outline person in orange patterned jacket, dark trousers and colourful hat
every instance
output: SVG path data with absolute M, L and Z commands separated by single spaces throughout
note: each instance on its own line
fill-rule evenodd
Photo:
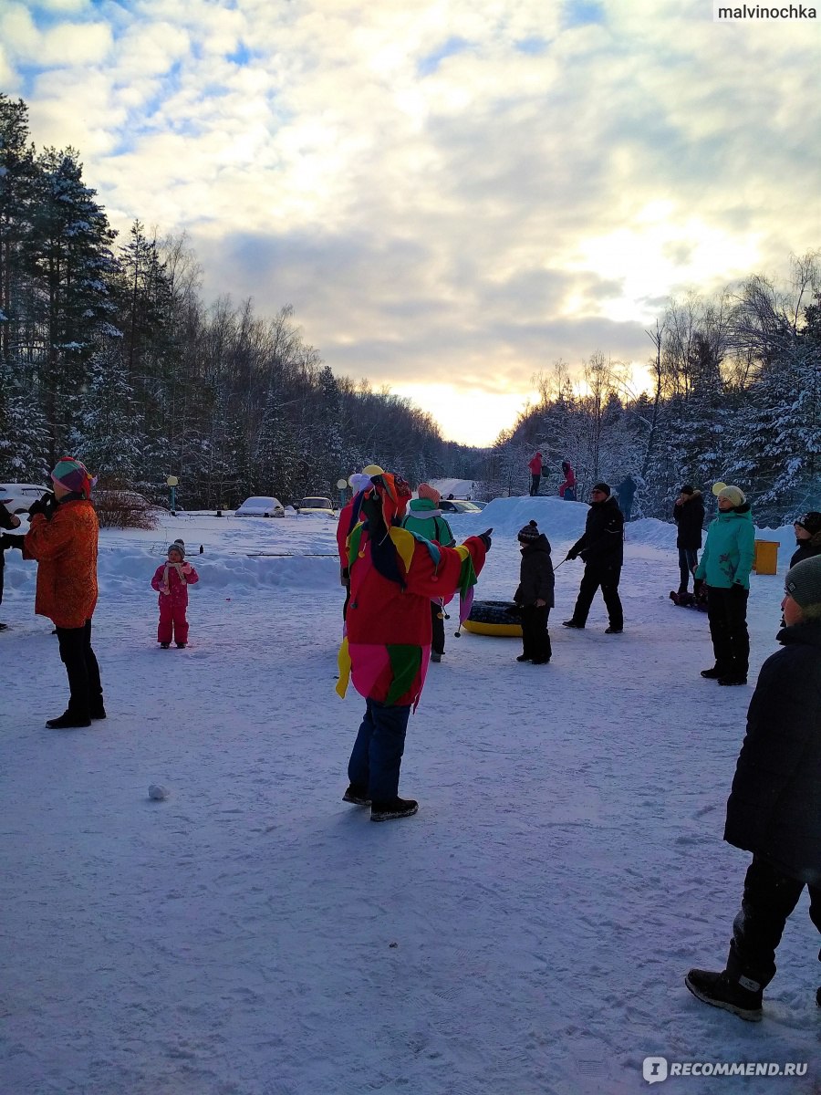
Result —
M 91 618 L 97 602 L 97 515 L 91 504 L 92 480 L 76 457 L 63 457 L 51 472 L 54 494 L 28 510 L 23 558 L 36 558 L 34 611 L 57 630 L 60 659 L 69 681 L 69 702 L 50 729 L 90 726 L 105 718 L 100 666 L 91 646 Z

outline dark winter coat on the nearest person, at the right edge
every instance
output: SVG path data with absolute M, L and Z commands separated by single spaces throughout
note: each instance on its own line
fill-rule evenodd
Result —
M 761 667 L 724 839 L 821 885 L 821 620 L 778 632 Z

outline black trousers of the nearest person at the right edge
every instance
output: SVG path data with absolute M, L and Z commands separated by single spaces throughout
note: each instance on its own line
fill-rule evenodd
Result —
M 753 856 L 744 878 L 741 910 L 732 924 L 727 958 L 731 975 L 750 978 L 762 989 L 775 977 L 775 950 L 787 918 L 798 904 L 805 883 L 782 874 L 777 867 Z M 808 886 L 810 920 L 821 932 L 821 886 Z M 821 952 L 819 953 L 821 960 Z

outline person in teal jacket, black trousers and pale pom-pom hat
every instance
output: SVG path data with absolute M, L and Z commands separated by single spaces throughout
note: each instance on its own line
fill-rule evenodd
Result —
M 718 494 L 718 516 L 707 529 L 696 581 L 707 584 L 707 619 L 716 664 L 702 677 L 719 684 L 747 684 L 750 635 L 747 599 L 755 554 L 750 504 L 737 486 Z

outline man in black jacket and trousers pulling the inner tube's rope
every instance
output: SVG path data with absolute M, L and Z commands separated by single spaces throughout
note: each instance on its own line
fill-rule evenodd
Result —
M 576 608 L 563 627 L 583 627 L 587 623 L 590 606 L 593 603 L 595 590 L 601 587 L 601 595 L 610 616 L 606 635 L 621 635 L 624 631 L 624 613 L 618 598 L 618 579 L 622 574 L 624 557 L 622 541 L 624 539 L 624 515 L 618 503 L 610 493 L 606 483 L 597 483 L 590 492 L 590 509 L 585 523 L 583 535 L 576 541 L 567 553 L 567 558 L 585 560 L 585 575 L 576 598 Z

